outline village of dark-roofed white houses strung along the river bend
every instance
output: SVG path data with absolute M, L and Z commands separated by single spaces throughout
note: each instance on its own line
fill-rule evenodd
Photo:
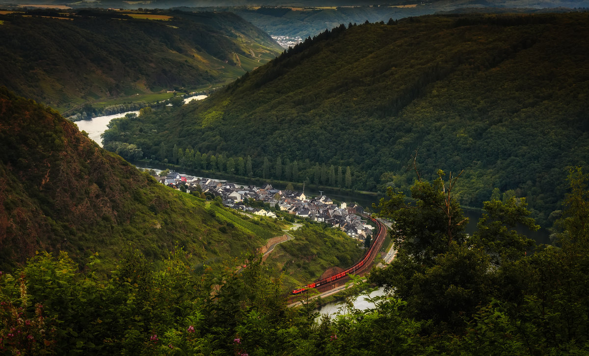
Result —
M 155 179 L 173 189 L 183 190 L 187 193 L 202 192 L 204 195 L 220 197 L 224 206 L 231 209 L 241 210 L 252 215 L 268 216 L 276 218 L 276 214 L 269 209 L 247 206 L 244 200 L 253 199 L 258 202 L 267 203 L 276 210 L 282 210 L 297 217 L 326 223 L 333 228 L 340 229 L 350 238 L 364 242 L 366 238 L 372 237 L 374 226 L 362 220 L 359 215 L 364 209 L 353 204 L 348 206 L 342 202 L 336 206 L 333 200 L 325 195 L 307 199 L 305 192 L 294 190 L 279 190 L 270 184 L 263 187 L 242 186 L 229 182 L 219 182 L 208 178 L 182 176 L 176 172 L 167 173 L 166 176 L 155 176 Z

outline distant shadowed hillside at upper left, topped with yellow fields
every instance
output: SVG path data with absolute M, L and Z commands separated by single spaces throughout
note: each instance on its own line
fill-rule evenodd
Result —
M 230 13 L 35 11 L 0 21 L 0 83 L 59 109 L 223 83 L 282 50 Z

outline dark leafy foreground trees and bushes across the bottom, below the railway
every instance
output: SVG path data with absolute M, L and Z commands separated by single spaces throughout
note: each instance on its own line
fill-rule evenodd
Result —
M 181 250 L 155 264 L 128 250 L 104 272 L 100 256 L 80 268 L 67 253 L 38 253 L 0 273 L 0 350 L 21 354 L 123 355 L 583 355 L 589 352 L 589 175 L 571 170 L 557 245 L 527 250 L 534 230 L 525 198 L 485 202 L 478 231 L 464 233 L 439 171 L 389 190 L 382 216 L 396 220 L 398 250 L 369 281 L 394 295 L 321 318 L 315 302 L 288 307 L 280 278 L 247 266 L 195 268 Z M 491 243 L 489 243 L 491 242 Z M 241 262 L 243 263 L 243 262 Z M 237 263 L 236 263 L 237 264 Z M 359 282 L 359 281 L 357 281 Z

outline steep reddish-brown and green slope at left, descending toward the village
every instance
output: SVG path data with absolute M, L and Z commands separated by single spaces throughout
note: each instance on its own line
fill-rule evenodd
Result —
M 179 246 L 214 264 L 266 243 L 240 228 L 247 218 L 227 224 L 211 203 L 155 182 L 55 111 L 5 88 L 0 118 L 0 269 L 35 250 L 66 250 L 79 261 L 130 245 L 151 259 Z M 267 235 L 282 234 L 264 224 Z

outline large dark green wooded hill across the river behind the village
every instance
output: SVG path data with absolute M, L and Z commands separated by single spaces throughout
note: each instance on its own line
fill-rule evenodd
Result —
M 366 190 L 406 189 L 418 150 L 426 178 L 465 171 L 463 205 L 528 197 L 534 216 L 550 225 L 566 167 L 589 159 L 588 18 L 342 25 L 208 100 L 121 123 L 108 141 L 199 169 L 210 168 L 214 154 L 223 162 L 249 156 L 253 175 Z

